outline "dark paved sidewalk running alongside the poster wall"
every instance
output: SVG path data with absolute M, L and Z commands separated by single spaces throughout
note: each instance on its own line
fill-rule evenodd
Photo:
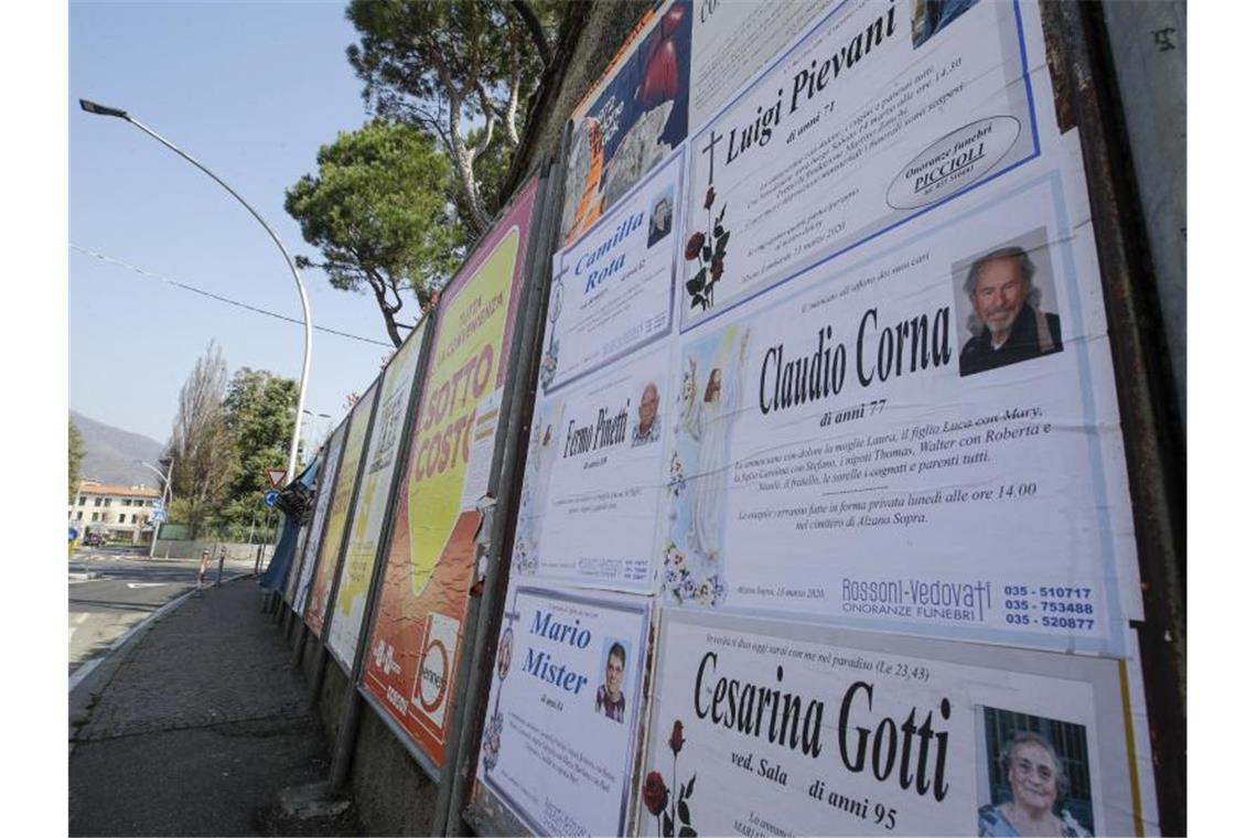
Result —
M 70 835 L 362 834 L 297 814 L 329 748 L 261 603 L 253 578 L 189 597 L 75 688 Z

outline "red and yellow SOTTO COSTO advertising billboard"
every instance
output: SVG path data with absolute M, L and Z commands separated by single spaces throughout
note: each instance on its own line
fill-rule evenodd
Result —
M 466 491 L 469 472 L 485 479 L 481 469 L 469 471 L 471 437 L 484 437 L 478 411 L 498 410 L 485 400 L 510 368 L 535 196 L 532 181 L 442 294 L 363 670 L 378 707 L 437 765 L 480 525 L 464 499 L 489 487 Z

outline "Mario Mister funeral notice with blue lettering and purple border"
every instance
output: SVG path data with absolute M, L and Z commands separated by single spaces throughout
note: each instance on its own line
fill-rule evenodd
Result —
M 642 597 L 508 592 L 478 776 L 535 834 L 627 834 L 649 624 Z

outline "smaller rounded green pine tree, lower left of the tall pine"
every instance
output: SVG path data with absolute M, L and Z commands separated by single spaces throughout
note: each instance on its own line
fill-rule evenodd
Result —
M 284 209 L 319 249 L 318 266 L 333 288 L 370 289 L 390 339 L 401 346 L 397 317 L 406 300 L 426 310 L 466 244 L 447 199 L 449 163 L 431 137 L 385 119 L 341 133 L 317 160 L 318 175 L 294 183 Z

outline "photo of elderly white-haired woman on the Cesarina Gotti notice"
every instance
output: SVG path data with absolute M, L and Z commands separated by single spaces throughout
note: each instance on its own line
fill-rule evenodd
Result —
M 1090 838 L 1095 830 L 1086 729 L 984 707 L 991 803 L 978 834 Z

